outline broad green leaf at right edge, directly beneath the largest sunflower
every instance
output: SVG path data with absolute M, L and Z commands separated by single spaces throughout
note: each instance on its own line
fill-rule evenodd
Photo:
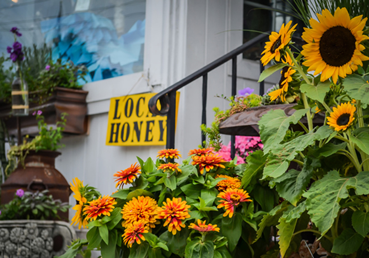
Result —
M 363 108 L 369 104 L 369 83 L 357 74 L 352 74 L 343 79 L 342 85 L 347 95 L 356 100 L 361 100 Z

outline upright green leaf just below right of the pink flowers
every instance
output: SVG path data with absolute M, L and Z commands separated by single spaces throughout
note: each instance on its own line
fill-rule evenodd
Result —
M 247 158 L 247 164 L 245 172 L 242 176 L 242 188 L 246 188 L 251 182 L 253 177 L 256 177 L 263 168 L 267 161 L 267 155 L 264 156 L 262 150 L 257 150 L 252 152 Z

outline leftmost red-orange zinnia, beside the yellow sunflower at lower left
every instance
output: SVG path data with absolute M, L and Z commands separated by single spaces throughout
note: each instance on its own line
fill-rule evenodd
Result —
M 92 200 L 88 204 L 84 207 L 84 215 L 87 215 L 86 220 L 96 220 L 101 214 L 110 216 L 110 212 L 114 210 L 113 205 L 117 204 L 117 202 L 109 195 L 103 196 L 102 198 L 100 195 L 98 199 Z

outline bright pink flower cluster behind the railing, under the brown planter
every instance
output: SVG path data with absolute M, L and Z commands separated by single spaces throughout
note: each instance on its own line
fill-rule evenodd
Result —
M 246 157 L 255 150 L 263 148 L 260 137 L 258 136 L 236 136 L 235 149 L 237 164 L 245 163 Z M 228 145 L 222 145 L 217 152 L 225 161 L 231 161 L 231 142 Z

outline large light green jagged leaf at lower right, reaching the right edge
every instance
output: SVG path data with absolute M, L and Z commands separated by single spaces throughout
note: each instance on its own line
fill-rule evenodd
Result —
M 314 182 L 310 189 L 302 194 L 306 197 L 306 209 L 311 221 L 324 235 L 332 226 L 340 209 L 339 201 L 349 196 L 348 189 L 355 189 L 358 195 L 369 194 L 369 172 L 360 172 L 355 177 L 340 177 L 338 172 L 328 172 Z

